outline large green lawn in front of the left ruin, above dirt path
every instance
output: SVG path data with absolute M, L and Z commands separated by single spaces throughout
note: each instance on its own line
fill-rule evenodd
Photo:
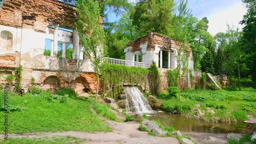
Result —
M 0 105 L 4 103 L 4 94 L 0 91 Z M 29 132 L 57 132 L 57 131 L 83 131 L 83 132 L 109 132 L 110 127 L 104 126 L 96 114 L 90 110 L 91 99 L 69 99 L 67 103 L 53 103 L 48 97 L 41 94 L 25 93 L 23 97 L 9 94 L 9 105 L 25 108 L 8 114 L 9 133 Z M 0 111 L 3 116 L 4 112 Z M 1 117 L 2 117 L 1 116 Z M 5 119 L 0 118 L 4 124 Z M 4 129 L 0 125 L 0 129 Z M 0 132 L 1 134 L 4 131 Z

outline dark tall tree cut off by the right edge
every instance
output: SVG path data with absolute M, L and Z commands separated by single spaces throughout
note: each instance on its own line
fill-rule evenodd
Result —
M 247 13 L 243 16 L 241 24 L 243 28 L 243 51 L 247 54 L 247 66 L 252 75 L 252 81 L 256 82 L 256 1 L 242 0 Z

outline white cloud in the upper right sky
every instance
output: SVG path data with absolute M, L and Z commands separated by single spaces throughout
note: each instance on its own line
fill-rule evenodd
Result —
M 208 32 L 212 35 L 215 35 L 219 32 L 226 32 L 228 23 L 230 26 L 235 28 L 242 26 L 239 22 L 243 19 L 243 15 L 246 13 L 246 9 L 242 5 L 242 2 L 238 2 L 228 8 L 223 8 L 216 13 L 212 13 L 210 16 L 207 16 L 209 20 Z

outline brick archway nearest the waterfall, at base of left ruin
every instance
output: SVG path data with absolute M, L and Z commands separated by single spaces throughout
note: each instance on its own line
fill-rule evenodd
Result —
M 77 77 L 73 82 L 72 82 L 72 87 L 75 89 L 75 91 L 80 95 L 83 92 L 88 92 L 90 91 L 89 89 L 89 83 L 87 80 L 83 77 Z

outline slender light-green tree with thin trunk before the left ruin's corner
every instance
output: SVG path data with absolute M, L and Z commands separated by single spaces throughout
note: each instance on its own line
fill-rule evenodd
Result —
M 96 75 L 96 102 L 98 96 L 101 64 L 103 57 L 106 54 L 106 47 L 103 46 L 104 31 L 99 25 L 100 9 L 98 1 L 88 0 L 86 2 L 84 0 L 77 0 L 76 11 L 78 14 L 75 26 L 79 33 L 81 44 L 86 50 L 86 55 L 90 59 Z

